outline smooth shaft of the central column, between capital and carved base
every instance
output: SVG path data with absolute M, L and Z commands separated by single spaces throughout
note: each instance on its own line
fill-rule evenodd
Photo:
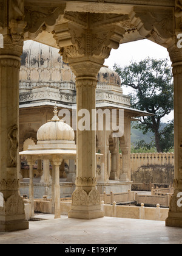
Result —
M 95 109 L 96 79 L 83 79 L 76 81 L 77 114 L 79 110 L 86 109 L 90 116 L 90 130 L 80 130 L 77 127 L 76 143 L 76 187 L 82 188 L 87 193 L 96 186 L 96 132 L 92 130 L 92 109 Z M 81 117 L 78 117 L 78 124 Z

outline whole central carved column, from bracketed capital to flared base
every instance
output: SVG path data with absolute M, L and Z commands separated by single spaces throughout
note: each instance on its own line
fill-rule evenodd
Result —
M 123 20 L 121 15 L 121 20 Z M 99 20 L 103 21 L 101 25 Z M 120 18 L 119 18 L 120 19 Z M 76 133 L 76 190 L 72 195 L 70 218 L 92 219 L 104 216 L 98 190 L 96 190 L 96 131 L 92 130 L 92 110 L 95 110 L 97 74 L 112 48 L 117 49 L 125 30 L 118 19 L 110 15 L 72 13 L 64 15 L 67 23 L 55 26 L 55 39 L 64 62 L 69 63 L 76 76 L 78 129 Z M 87 128 L 79 122 L 86 110 Z M 89 123 L 89 125 L 88 125 Z M 89 127 L 88 127 L 89 126 Z

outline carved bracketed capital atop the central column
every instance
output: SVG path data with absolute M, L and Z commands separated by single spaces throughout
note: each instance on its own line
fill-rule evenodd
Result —
M 95 13 L 69 13 L 66 12 L 64 20 L 67 23 L 55 26 L 54 38 L 60 48 L 64 62 L 75 70 L 76 65 L 86 62 L 103 65 L 104 59 L 110 55 L 111 49 L 117 49 L 125 34 L 125 29 L 118 22 L 126 20 L 127 15 L 111 17 L 101 16 L 98 20 Z M 75 65 L 75 66 L 74 66 Z M 78 69 L 78 68 L 77 68 Z M 92 69 L 92 72 L 96 72 Z

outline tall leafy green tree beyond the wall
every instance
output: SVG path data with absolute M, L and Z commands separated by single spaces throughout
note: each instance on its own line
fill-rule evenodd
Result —
M 174 122 L 161 129 L 161 119 L 174 109 L 172 69 L 167 59 L 144 59 L 121 68 L 114 66 L 121 77 L 121 86 L 131 87 L 131 105 L 138 110 L 152 113 L 141 118 L 136 128 L 143 133 L 155 133 L 157 152 L 166 152 L 174 146 Z

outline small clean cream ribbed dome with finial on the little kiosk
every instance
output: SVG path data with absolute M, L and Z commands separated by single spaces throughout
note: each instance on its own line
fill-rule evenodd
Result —
M 55 110 L 54 116 L 52 120 L 50 120 L 48 123 L 43 124 L 38 132 L 37 132 L 37 140 L 39 141 L 73 141 L 75 138 L 75 133 L 72 127 L 70 127 L 68 124 L 60 121 L 58 118 L 58 111 L 57 107 L 54 107 Z

